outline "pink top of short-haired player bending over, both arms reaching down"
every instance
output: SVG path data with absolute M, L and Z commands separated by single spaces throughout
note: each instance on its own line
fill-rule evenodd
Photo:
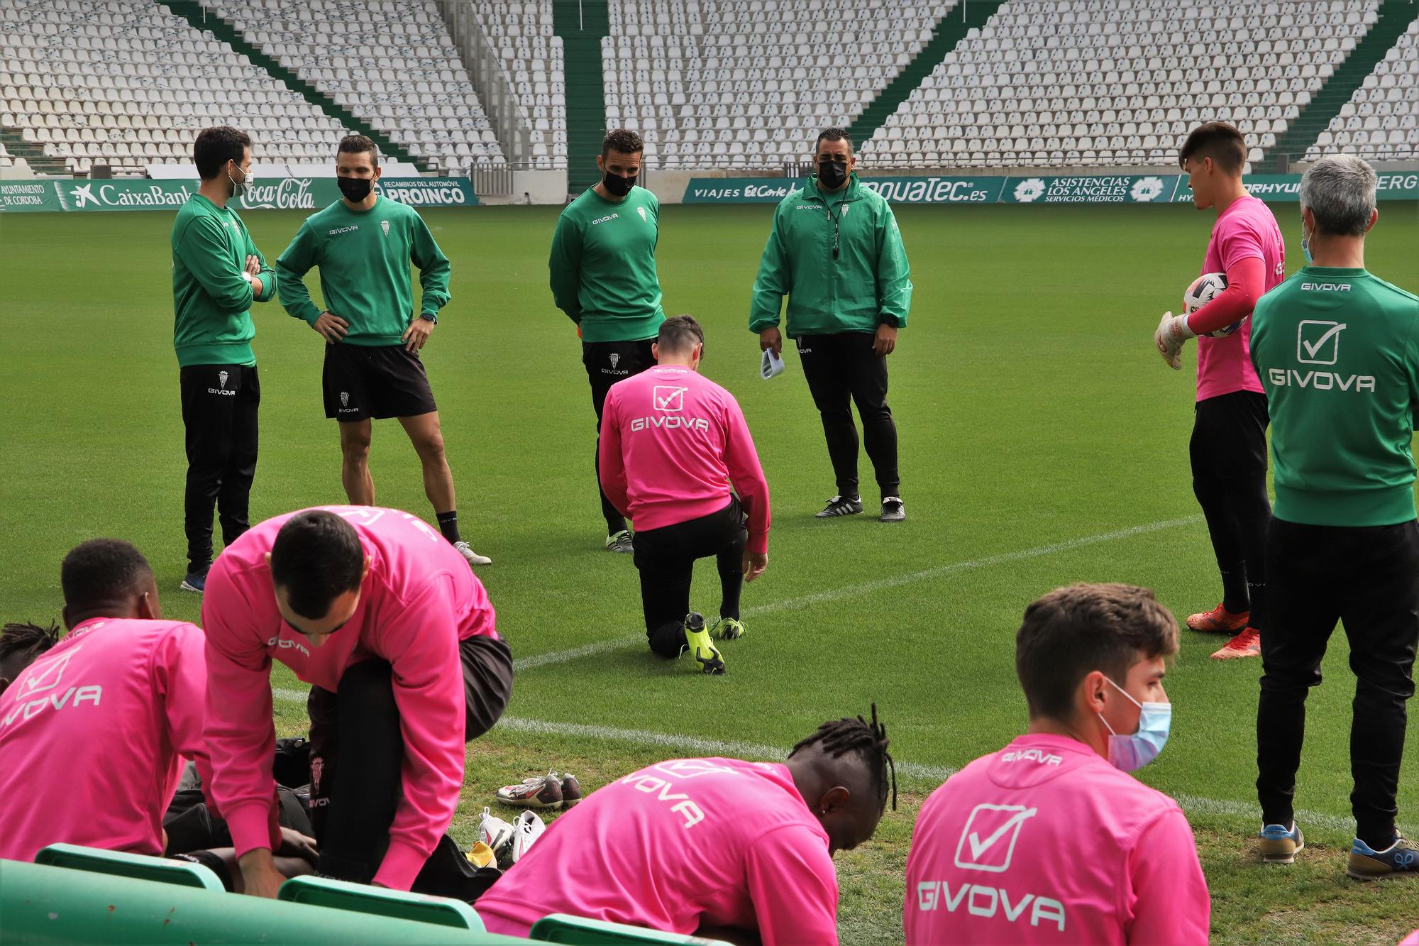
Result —
M 271 659 L 307 683 L 338 690 L 345 670 L 382 658 L 394 668 L 404 737 L 404 797 L 375 882 L 407 891 L 453 821 L 463 787 L 464 685 L 458 642 L 497 636 L 492 605 L 468 562 L 434 528 L 393 509 L 328 506 L 359 533 L 369 575 L 359 607 L 318 648 L 281 619 L 265 557 L 295 513 L 253 527 L 207 574 L 209 798 L 241 857 L 271 847 Z

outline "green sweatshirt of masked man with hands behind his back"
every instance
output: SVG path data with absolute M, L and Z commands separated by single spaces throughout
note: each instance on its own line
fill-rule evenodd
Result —
M 583 342 L 654 338 L 660 307 L 656 243 L 660 202 L 631 187 L 620 202 L 589 187 L 566 205 L 552 233 L 552 300 L 582 327 Z

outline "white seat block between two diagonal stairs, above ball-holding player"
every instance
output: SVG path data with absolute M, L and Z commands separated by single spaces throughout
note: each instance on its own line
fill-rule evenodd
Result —
M 863 153 L 877 166 L 1174 163 L 1188 128 L 1220 118 L 1256 142 L 1256 163 L 1378 6 L 1010 0 Z

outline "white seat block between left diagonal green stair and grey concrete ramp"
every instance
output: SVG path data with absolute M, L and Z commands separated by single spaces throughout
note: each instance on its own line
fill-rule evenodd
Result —
M 504 161 L 431 0 L 203 0 L 203 6 L 416 163 L 464 173 L 473 162 Z

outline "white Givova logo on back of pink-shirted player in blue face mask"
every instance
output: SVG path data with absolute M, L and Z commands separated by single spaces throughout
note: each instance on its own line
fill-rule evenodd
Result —
M 956 844 L 955 865 L 966 871 L 1003 874 L 1015 858 L 1020 828 L 1039 814 L 1039 808 L 1025 805 L 979 804 L 966 818 Z M 1064 905 L 1039 893 L 1012 893 L 1005 886 L 971 884 L 951 886 L 951 881 L 922 881 L 917 884 L 917 909 L 929 913 L 945 909 L 955 913 L 965 908 L 971 916 L 1003 919 L 1006 923 L 1029 922 L 1030 926 L 1053 923 L 1064 932 Z

